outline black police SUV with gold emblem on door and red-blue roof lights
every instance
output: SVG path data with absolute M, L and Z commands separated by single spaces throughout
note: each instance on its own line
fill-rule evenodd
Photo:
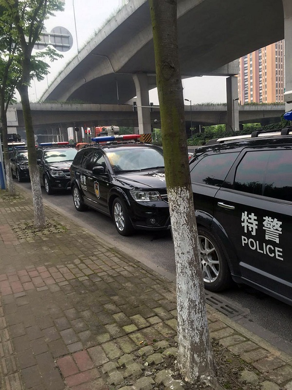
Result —
M 135 138 L 97 137 L 71 166 L 76 210 L 110 215 L 119 234 L 170 229 L 162 149 Z

